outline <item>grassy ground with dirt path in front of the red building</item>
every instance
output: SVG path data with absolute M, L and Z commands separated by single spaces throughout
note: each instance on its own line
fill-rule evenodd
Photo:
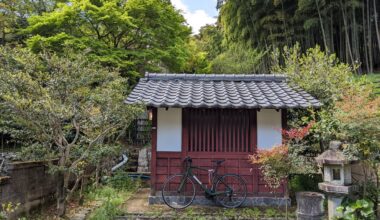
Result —
M 78 201 L 68 204 L 66 218 L 71 220 L 108 220 L 108 219 L 285 219 L 285 211 L 277 208 L 238 208 L 227 209 L 218 206 L 204 207 L 191 205 L 183 210 L 173 210 L 166 205 L 149 205 L 149 188 L 140 188 L 133 193 L 114 191 L 109 186 L 102 186 L 86 194 L 86 202 Z M 105 197 L 109 196 L 108 199 Z M 55 214 L 55 204 L 35 211 L 26 219 L 60 219 Z M 288 212 L 289 219 L 295 219 L 295 207 Z

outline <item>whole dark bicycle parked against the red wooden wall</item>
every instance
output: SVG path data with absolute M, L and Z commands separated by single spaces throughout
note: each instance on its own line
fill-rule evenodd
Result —
M 162 198 L 166 205 L 173 209 L 184 209 L 191 205 L 195 198 L 196 182 L 205 192 L 206 198 L 214 199 L 226 208 L 237 208 L 241 206 L 247 197 L 247 185 L 238 174 L 218 175 L 218 168 L 225 160 L 213 160 L 216 163 L 215 169 L 208 170 L 202 167 L 192 166 L 192 159 L 186 157 L 185 172 L 175 174 L 167 178 L 162 188 Z M 211 188 L 208 189 L 192 170 L 198 169 L 209 172 L 209 182 Z M 211 178 L 212 177 L 212 178 Z

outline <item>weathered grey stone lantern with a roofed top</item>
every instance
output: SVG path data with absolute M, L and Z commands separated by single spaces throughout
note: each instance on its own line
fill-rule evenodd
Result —
M 351 167 L 357 160 L 347 158 L 339 149 L 341 145 L 339 141 L 331 141 L 329 149 L 315 158 L 323 167 L 323 182 L 318 187 L 327 194 L 329 219 L 336 215 L 343 198 L 357 190 L 351 175 Z

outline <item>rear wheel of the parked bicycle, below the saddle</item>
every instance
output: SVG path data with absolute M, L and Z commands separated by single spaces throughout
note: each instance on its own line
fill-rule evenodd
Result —
M 215 196 L 216 201 L 226 208 L 241 206 L 247 197 L 247 184 L 236 174 L 220 177 L 215 184 L 215 190 L 219 193 Z

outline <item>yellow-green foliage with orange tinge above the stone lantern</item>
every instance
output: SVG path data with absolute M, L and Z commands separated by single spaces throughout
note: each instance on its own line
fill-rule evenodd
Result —
M 352 68 L 319 47 L 305 54 L 300 52 L 298 45 L 290 49 L 285 47 L 283 54 L 283 64 L 277 64 L 273 71 L 284 72 L 293 86 L 302 88 L 323 103 L 318 111 L 290 111 L 289 122 L 293 127 L 316 121 L 310 135 L 293 144 L 293 149 L 298 155 L 314 157 L 329 141 L 341 140 L 345 143 L 343 150 L 347 156 L 361 160 L 376 174 L 380 164 L 380 99 L 373 95 L 371 84 L 365 78 L 354 77 Z M 380 179 L 379 175 L 375 178 Z M 367 183 L 370 183 L 368 179 Z M 377 193 L 371 196 L 368 193 L 365 190 L 360 197 L 375 198 L 376 203 Z

